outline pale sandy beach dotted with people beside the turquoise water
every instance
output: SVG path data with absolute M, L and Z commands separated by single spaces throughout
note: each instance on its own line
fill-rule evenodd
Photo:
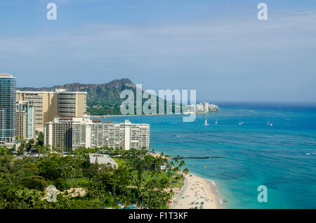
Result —
M 218 209 L 214 185 L 202 177 L 185 175 L 184 186 L 171 201 L 170 209 Z

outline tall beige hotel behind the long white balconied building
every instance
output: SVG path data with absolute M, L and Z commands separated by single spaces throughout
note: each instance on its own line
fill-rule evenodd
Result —
M 44 130 L 45 123 L 56 116 L 82 117 L 86 112 L 86 92 L 70 92 L 65 89 L 55 91 L 16 91 L 16 100 L 34 104 L 36 130 Z

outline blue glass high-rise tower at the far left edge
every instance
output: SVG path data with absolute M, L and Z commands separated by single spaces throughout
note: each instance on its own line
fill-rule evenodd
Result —
M 15 138 L 15 77 L 0 74 L 0 144 L 13 144 Z

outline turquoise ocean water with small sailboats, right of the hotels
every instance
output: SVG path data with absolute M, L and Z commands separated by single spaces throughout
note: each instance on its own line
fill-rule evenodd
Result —
M 218 113 L 197 114 L 193 123 L 183 123 L 180 115 L 128 119 L 150 123 L 155 151 L 225 156 L 185 159 L 192 173 L 216 182 L 221 200 L 228 201 L 224 208 L 316 208 L 316 105 L 218 104 Z M 210 126 L 203 125 L 206 118 Z M 244 124 L 239 126 L 239 121 Z M 267 203 L 257 201 L 259 185 L 268 187 Z

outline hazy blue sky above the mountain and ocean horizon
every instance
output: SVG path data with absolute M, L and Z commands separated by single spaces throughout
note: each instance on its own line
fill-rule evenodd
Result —
M 0 73 L 18 87 L 129 78 L 197 100 L 316 102 L 316 1 L 0 0 Z

